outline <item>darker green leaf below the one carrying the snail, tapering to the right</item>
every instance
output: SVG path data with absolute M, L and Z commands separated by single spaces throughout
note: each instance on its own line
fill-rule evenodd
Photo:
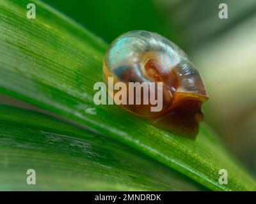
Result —
M 122 143 L 11 106 L 0 105 L 0 149 L 1 191 L 202 189 Z M 36 185 L 27 184 L 28 169 Z

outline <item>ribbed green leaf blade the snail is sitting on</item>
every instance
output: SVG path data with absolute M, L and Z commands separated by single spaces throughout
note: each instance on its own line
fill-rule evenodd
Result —
M 212 190 L 255 190 L 255 180 L 204 124 L 196 140 L 166 133 L 118 106 L 93 103 L 107 45 L 72 20 L 36 1 L 0 2 L 0 91 L 124 143 Z M 218 182 L 220 169 L 228 184 Z

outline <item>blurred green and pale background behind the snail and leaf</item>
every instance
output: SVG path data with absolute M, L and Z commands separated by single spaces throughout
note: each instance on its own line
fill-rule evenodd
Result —
M 210 100 L 205 120 L 256 175 L 256 1 L 44 0 L 111 43 L 127 31 L 162 34 L 191 57 Z M 228 19 L 218 6 L 228 5 Z

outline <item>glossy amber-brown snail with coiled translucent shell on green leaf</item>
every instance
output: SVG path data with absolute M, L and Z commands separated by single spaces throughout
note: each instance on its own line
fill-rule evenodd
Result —
M 148 31 L 130 31 L 122 34 L 111 43 L 105 55 L 103 73 L 106 84 L 109 77 L 113 77 L 114 84 L 161 82 L 161 111 L 152 112 L 152 103 L 127 103 L 122 106 L 129 112 L 147 117 L 154 126 L 166 131 L 185 136 L 195 136 L 198 133 L 198 124 L 204 119 L 201 106 L 208 99 L 207 93 L 193 63 L 171 41 Z M 150 89 L 148 91 L 152 92 Z M 139 96 L 134 95 L 135 98 L 141 97 L 141 101 L 146 101 L 141 93 Z M 113 97 L 116 91 L 113 90 L 109 94 Z M 131 94 L 129 95 L 127 90 L 125 94 L 129 101 Z

